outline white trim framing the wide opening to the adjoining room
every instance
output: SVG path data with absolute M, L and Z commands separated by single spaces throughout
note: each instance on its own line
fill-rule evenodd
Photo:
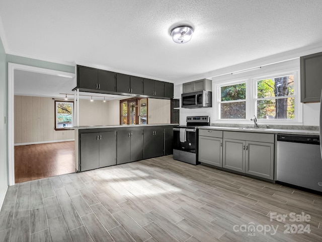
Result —
M 75 74 L 45 69 L 29 65 L 8 63 L 8 172 L 9 186 L 15 185 L 15 70 L 26 70 L 43 74 L 73 78 L 76 87 Z

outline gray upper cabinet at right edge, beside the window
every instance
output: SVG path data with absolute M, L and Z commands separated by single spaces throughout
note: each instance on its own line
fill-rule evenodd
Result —
M 319 102 L 322 89 L 322 52 L 300 57 L 301 102 Z

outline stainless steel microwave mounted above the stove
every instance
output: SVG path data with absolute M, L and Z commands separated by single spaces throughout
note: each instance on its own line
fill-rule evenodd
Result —
M 182 108 L 210 108 L 212 107 L 212 95 L 210 91 L 199 91 L 181 94 Z

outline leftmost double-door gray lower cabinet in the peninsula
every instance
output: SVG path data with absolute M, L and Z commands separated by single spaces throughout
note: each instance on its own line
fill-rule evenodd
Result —
M 116 165 L 115 131 L 81 133 L 81 162 L 79 171 L 84 172 Z

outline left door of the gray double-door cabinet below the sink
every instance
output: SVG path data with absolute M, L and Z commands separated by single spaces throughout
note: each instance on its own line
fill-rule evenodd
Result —
M 246 141 L 223 139 L 222 167 L 245 173 L 245 147 Z

